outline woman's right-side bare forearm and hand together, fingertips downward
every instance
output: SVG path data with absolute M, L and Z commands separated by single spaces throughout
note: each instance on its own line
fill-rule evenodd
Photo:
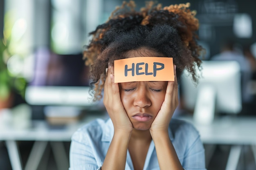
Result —
M 183 170 L 168 135 L 169 122 L 179 103 L 176 66 L 174 66 L 174 73 L 175 80 L 168 82 L 164 102 L 150 127 L 150 134 L 155 143 L 157 159 L 161 170 Z

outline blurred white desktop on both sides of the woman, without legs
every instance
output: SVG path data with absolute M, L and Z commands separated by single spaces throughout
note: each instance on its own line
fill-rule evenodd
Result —
M 0 126 L 0 141 L 70 141 L 72 134 L 87 122 L 106 115 L 87 115 L 81 122 L 51 128 L 46 121 L 31 121 L 26 128 Z M 256 117 L 222 117 L 212 124 L 196 124 L 192 117 L 177 117 L 191 122 L 205 144 L 256 144 Z

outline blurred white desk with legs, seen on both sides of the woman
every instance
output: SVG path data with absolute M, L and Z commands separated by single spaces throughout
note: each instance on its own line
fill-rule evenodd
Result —
M 19 109 L 20 110 L 20 109 Z M 46 121 L 29 121 L 29 126 L 16 128 L 14 124 L 0 123 L 0 141 L 5 141 L 13 170 L 22 170 L 19 149 L 16 141 L 35 141 L 25 170 L 36 170 L 48 143 L 52 148 L 58 169 L 67 169 L 68 158 L 63 141 L 71 141 L 72 134 L 85 123 L 106 115 L 87 115 L 81 122 L 68 124 L 62 129 L 49 128 Z M 198 129 L 204 144 L 232 145 L 226 170 L 236 170 L 242 145 L 253 148 L 256 161 L 256 117 L 222 117 L 212 124 L 196 124 L 192 117 L 177 117 L 191 122 Z

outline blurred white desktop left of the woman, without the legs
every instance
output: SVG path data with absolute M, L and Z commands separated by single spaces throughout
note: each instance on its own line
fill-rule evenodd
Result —
M 101 117 L 106 117 L 106 115 Z M 47 121 L 43 120 L 29 121 L 29 125 L 25 128 L 6 124 L 0 126 L 0 141 L 71 141 L 72 134 L 79 127 L 96 118 L 99 118 L 99 115 L 85 116 L 81 122 L 67 124 L 63 127 L 49 126 Z

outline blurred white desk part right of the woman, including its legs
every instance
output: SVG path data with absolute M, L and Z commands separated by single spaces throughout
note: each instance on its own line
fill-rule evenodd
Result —
M 197 124 L 192 117 L 178 118 L 193 124 L 204 144 L 231 145 L 226 170 L 236 170 L 243 145 L 252 146 L 256 162 L 256 117 L 218 117 L 209 125 Z

